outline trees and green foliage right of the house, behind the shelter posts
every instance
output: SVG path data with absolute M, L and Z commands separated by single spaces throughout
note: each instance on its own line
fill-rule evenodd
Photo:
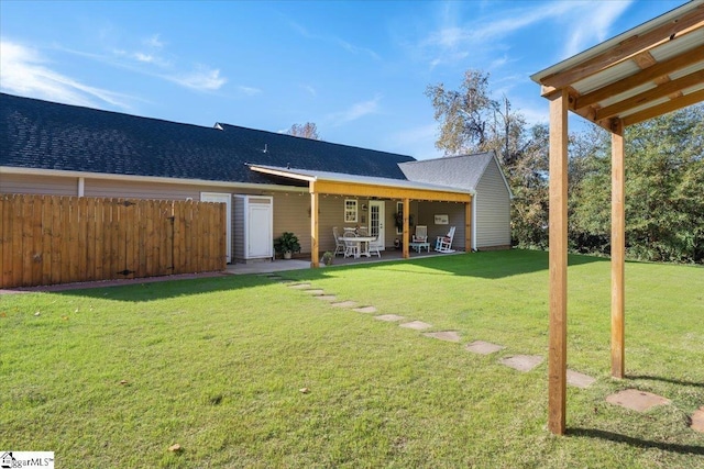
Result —
M 514 193 L 513 244 L 548 247 L 548 127 L 526 129 L 508 99 L 491 97 L 488 74 L 468 70 L 460 89 L 429 86 L 449 155 L 494 150 Z M 635 259 L 704 264 L 704 107 L 628 127 L 626 244 Z M 570 135 L 569 245 L 610 253 L 610 136 L 600 127 Z

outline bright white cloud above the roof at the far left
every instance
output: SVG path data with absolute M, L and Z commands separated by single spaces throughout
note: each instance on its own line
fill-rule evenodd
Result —
M 53 70 L 48 64 L 36 49 L 0 40 L 0 89 L 67 104 L 130 109 L 127 96 L 81 83 Z

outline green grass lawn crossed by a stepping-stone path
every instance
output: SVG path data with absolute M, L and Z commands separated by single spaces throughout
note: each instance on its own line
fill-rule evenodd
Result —
M 546 431 L 547 361 L 497 362 L 548 348 L 547 254 L 512 250 L 284 272 L 460 344 L 256 276 L 0 297 L 0 450 L 53 450 L 59 468 L 704 467 L 688 425 L 704 269 L 627 264 L 619 381 L 609 263 L 570 264 L 569 366 L 597 381 L 569 388 L 565 437 Z M 471 354 L 475 339 L 506 348 Z M 605 402 L 628 388 L 672 402 Z

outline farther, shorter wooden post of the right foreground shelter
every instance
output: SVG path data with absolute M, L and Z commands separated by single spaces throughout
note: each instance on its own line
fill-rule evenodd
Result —
M 626 210 L 625 144 L 620 120 L 612 125 L 612 376 L 624 378 Z

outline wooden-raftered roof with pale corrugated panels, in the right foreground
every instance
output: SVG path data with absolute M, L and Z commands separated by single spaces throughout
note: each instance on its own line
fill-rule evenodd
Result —
M 704 101 L 704 0 L 693 0 L 531 76 L 612 131 Z

